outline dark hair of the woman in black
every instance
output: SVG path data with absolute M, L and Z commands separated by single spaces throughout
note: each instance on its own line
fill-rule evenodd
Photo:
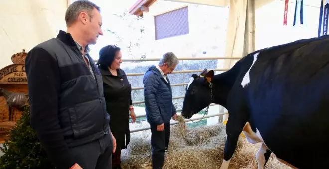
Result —
M 115 45 L 104 46 L 99 51 L 97 66 L 101 69 L 108 70 L 108 67 L 111 66 L 118 51 L 120 51 L 120 48 Z

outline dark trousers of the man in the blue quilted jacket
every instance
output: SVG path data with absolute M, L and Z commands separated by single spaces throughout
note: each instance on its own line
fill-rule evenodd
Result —
M 165 123 L 164 131 L 157 131 L 157 125 L 150 124 L 152 146 L 152 169 L 162 169 L 165 161 L 165 150 L 170 140 L 170 123 Z

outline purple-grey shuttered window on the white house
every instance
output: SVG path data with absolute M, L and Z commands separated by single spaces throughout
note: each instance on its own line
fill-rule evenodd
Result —
M 186 35 L 188 28 L 188 7 L 183 7 L 154 17 L 156 40 Z

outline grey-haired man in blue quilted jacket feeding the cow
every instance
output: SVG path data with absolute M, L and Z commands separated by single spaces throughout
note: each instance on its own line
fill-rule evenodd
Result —
M 159 65 L 151 66 L 143 77 L 146 119 L 151 127 L 152 168 L 161 169 L 170 138 L 170 119 L 177 120 L 167 75 L 178 64 L 172 52 L 165 53 Z

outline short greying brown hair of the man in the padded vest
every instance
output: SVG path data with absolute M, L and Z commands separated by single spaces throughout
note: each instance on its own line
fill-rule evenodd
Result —
M 66 26 L 71 26 L 79 17 L 81 12 L 86 12 L 89 17 L 90 21 L 93 18 L 91 12 L 96 8 L 100 12 L 100 7 L 98 7 L 93 2 L 89 0 L 77 0 L 73 2 L 67 9 L 65 13 L 65 22 Z

